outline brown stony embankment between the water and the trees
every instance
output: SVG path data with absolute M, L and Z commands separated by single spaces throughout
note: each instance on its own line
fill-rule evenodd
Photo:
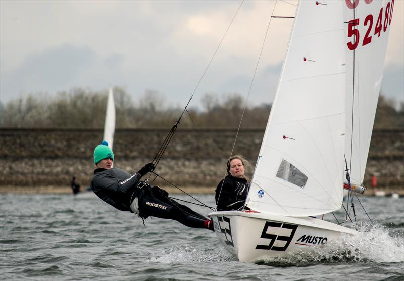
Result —
M 136 172 L 155 157 L 167 129 L 118 129 L 115 133 L 115 166 Z M 161 159 L 154 181 L 160 186 L 195 186 L 214 190 L 226 172 L 237 130 L 178 129 Z M 92 153 L 102 138 L 97 129 L 0 129 L 0 192 L 37 189 L 69 189 L 75 176 L 88 186 L 93 174 Z M 238 133 L 234 154 L 250 161 L 251 174 L 260 150 L 264 130 Z M 365 173 L 365 186 L 371 189 L 376 174 L 378 189 L 400 192 L 404 181 L 404 130 L 374 130 Z M 163 178 L 163 179 L 162 179 Z M 153 178 L 151 178 L 153 179 Z M 167 181 L 166 181 L 167 180 Z

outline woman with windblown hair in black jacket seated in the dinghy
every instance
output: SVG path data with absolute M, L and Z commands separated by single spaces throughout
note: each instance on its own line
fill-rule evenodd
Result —
M 245 176 L 248 161 L 235 155 L 227 161 L 227 176 L 222 179 L 215 192 L 218 211 L 240 210 L 244 207 L 249 183 Z

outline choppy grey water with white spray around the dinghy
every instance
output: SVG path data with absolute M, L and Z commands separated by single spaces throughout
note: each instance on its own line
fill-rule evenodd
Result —
M 196 197 L 214 204 L 213 195 Z M 404 199 L 363 203 L 375 219 L 363 236 L 251 264 L 232 259 L 211 231 L 157 218 L 144 226 L 95 196 L 0 195 L 0 279 L 404 280 Z

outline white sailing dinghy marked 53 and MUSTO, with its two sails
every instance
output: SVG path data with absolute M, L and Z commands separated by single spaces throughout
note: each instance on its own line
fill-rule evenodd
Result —
M 272 260 L 357 230 L 322 220 L 363 178 L 394 0 L 305 0 L 245 209 L 208 216 L 239 261 Z

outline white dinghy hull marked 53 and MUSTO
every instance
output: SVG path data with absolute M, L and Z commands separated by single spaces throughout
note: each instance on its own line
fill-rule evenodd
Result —
M 271 260 L 359 232 L 311 217 L 224 211 L 209 214 L 220 243 L 241 262 Z

